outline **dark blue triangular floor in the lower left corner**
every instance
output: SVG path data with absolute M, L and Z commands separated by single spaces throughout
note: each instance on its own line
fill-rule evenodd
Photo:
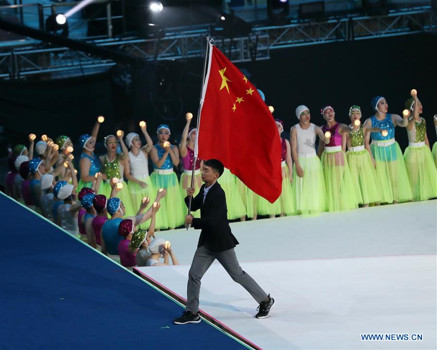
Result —
M 0 349 L 246 349 L 0 194 Z

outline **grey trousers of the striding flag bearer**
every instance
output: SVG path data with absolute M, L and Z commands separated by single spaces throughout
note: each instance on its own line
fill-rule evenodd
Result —
M 232 280 L 240 283 L 258 303 L 267 297 L 267 293 L 262 290 L 258 283 L 242 270 L 233 248 L 220 252 L 212 252 L 203 245 L 197 248 L 192 259 L 190 272 L 188 273 L 186 310 L 194 313 L 199 311 L 200 280 L 215 259 L 222 264 Z

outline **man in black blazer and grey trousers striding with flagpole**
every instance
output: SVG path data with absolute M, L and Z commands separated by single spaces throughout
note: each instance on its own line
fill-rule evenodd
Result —
M 225 191 L 217 182 L 223 170 L 223 164 L 216 159 L 205 162 L 202 170 L 202 181 L 205 184 L 192 199 L 192 210 L 200 209 L 200 218 L 194 218 L 192 215 L 185 218 L 187 224 L 192 224 L 194 229 L 202 229 L 202 232 L 188 273 L 186 311 L 181 317 L 173 320 L 175 324 L 200 322 L 200 280 L 215 259 L 226 269 L 232 280 L 240 283 L 260 304 L 255 317 L 267 317 L 275 304 L 270 294 L 267 295 L 238 263 L 234 250 L 238 241 L 232 234 L 227 220 Z M 194 194 L 194 189 L 187 188 L 187 194 L 185 203 L 188 206 L 189 196 Z

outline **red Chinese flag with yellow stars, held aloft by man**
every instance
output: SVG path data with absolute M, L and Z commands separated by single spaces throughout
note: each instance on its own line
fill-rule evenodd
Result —
M 220 160 L 271 203 L 279 198 L 281 146 L 275 120 L 253 84 L 212 45 L 198 150 L 200 158 Z

